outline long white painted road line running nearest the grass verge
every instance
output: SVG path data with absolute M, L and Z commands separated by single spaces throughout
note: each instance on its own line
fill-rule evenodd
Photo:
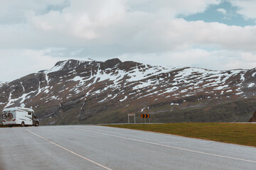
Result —
M 136 142 L 143 142 L 143 143 L 147 143 L 147 144 L 151 144 L 151 145 L 157 145 L 157 146 L 160 146 L 160 147 L 169 147 L 169 148 L 172 148 L 172 149 L 178 149 L 178 150 L 182 150 L 182 151 L 186 151 L 186 152 L 193 152 L 193 153 L 198 153 L 198 154 L 206 154 L 206 155 L 210 155 L 210 156 L 213 156 L 213 157 L 221 157 L 221 158 L 234 159 L 234 160 L 243 161 L 243 162 L 256 163 L 256 161 L 252 161 L 252 160 L 248 160 L 248 159 L 240 159 L 240 158 L 235 158 L 235 157 L 226 157 L 226 156 L 223 156 L 223 155 L 220 155 L 220 154 L 209 154 L 209 153 L 206 153 L 206 152 L 200 152 L 200 151 L 195 151 L 195 150 L 191 150 L 191 149 L 184 149 L 184 148 L 181 148 L 181 147 L 171 147 L 171 146 L 168 146 L 168 145 L 161 145 L 159 143 L 146 142 L 146 141 L 143 141 L 143 140 L 136 140 L 136 139 L 132 139 L 132 138 L 129 138 L 129 137 L 110 135 L 110 134 L 107 134 L 107 133 L 95 132 L 95 131 L 92 131 L 92 130 L 85 130 L 85 129 L 80 129 L 80 128 L 74 128 L 74 129 L 83 130 L 83 131 L 87 131 L 87 132 L 93 132 L 93 133 L 97 133 L 97 134 L 100 134 L 100 135 L 119 137 L 119 138 L 122 138 L 124 140 L 132 140 L 132 141 L 136 141 Z

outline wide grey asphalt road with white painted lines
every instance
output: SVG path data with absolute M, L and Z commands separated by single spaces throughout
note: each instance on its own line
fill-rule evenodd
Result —
M 256 148 L 95 125 L 0 128 L 0 169 L 256 169 Z

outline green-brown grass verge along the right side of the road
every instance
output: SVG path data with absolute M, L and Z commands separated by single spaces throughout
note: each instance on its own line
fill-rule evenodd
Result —
M 165 123 L 107 126 L 161 132 L 256 147 L 256 124 L 251 123 Z

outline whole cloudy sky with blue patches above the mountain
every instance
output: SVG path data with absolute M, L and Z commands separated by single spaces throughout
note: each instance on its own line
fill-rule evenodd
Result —
M 254 0 L 0 2 L 0 81 L 68 59 L 256 67 Z

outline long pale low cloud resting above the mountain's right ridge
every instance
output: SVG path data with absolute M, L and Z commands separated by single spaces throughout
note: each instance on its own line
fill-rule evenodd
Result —
M 200 67 L 204 69 L 226 70 L 226 69 L 252 69 L 256 66 L 253 56 L 256 53 L 202 49 L 187 49 L 174 52 L 162 52 L 151 54 L 133 54 L 118 56 L 122 61 L 134 60 L 153 65 L 164 65 L 172 67 Z M 246 57 L 245 57 L 246 56 Z M 146 58 L 146 60 L 145 60 Z M 156 60 L 157 58 L 157 60 Z M 202 67 L 203 65 L 203 67 Z

